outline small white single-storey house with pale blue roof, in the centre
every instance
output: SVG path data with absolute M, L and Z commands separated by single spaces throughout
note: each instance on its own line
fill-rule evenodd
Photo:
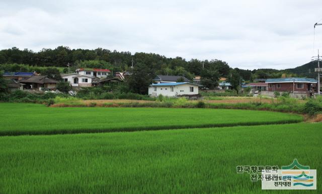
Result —
M 193 96 L 199 94 L 198 84 L 189 82 L 169 82 L 151 84 L 148 88 L 148 94 L 152 97 L 158 95 L 175 97 L 175 96 Z

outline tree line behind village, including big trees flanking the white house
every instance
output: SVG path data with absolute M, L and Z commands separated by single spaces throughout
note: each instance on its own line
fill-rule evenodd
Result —
M 185 76 L 189 80 L 193 80 L 195 76 L 201 76 L 202 84 L 210 89 L 218 86 L 220 77 L 228 78 L 232 88 L 237 89 L 240 81 L 243 80 L 278 78 L 283 74 L 284 76 L 292 76 L 273 69 L 233 69 L 226 62 L 218 59 L 204 61 L 191 59 L 187 61 L 182 57 L 167 58 L 154 53 L 131 54 L 130 52 L 110 51 L 102 48 L 89 50 L 59 46 L 55 49 L 42 49 L 39 52 L 34 52 L 29 49 L 20 50 L 13 47 L 0 51 L 0 70 L 2 71 L 36 71 L 50 76 L 58 74 L 57 68 L 67 73 L 68 63 L 71 72 L 79 67 L 108 68 L 113 72 L 132 71 L 133 76 L 129 80 L 131 82 L 129 86 L 132 86 L 132 90 L 137 93 L 146 93 L 146 86 L 151 83 L 155 75 Z M 133 69 L 131 68 L 132 63 Z

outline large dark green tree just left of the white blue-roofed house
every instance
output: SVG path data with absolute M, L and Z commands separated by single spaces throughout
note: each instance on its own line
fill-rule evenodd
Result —
M 131 92 L 147 94 L 148 86 L 152 83 L 151 70 L 143 63 L 137 63 L 133 68 L 133 74 L 130 75 L 126 82 Z

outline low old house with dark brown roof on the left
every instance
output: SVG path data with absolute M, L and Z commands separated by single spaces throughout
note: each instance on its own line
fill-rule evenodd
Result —
M 27 90 L 55 89 L 58 83 L 47 76 L 31 76 L 30 78 L 19 80 L 19 82 L 24 84 L 23 88 Z

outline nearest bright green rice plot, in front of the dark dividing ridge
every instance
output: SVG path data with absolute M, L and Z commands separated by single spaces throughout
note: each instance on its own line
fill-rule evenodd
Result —
M 281 167 L 297 158 L 319 170 L 321 128 L 298 123 L 0 137 L 0 193 L 259 193 L 261 181 L 237 174 L 236 166 Z M 320 190 L 322 181 L 317 184 Z M 274 193 L 285 192 L 311 190 Z

